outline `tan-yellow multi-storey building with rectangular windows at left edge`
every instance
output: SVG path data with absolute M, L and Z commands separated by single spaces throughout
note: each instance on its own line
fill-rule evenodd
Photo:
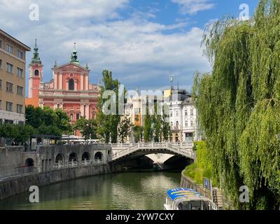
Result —
M 0 29 L 0 122 L 25 123 L 25 64 L 30 50 Z

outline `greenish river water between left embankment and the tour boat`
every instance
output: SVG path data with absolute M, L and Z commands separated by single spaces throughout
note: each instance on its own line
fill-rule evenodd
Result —
M 163 210 L 165 192 L 178 188 L 181 172 L 127 172 L 56 183 L 39 189 L 40 202 L 29 192 L 0 201 L 0 209 Z

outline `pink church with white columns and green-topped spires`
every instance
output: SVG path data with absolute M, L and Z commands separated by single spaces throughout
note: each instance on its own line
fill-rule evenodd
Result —
M 27 105 L 62 109 L 76 123 L 80 117 L 95 118 L 101 87 L 90 83 L 90 69 L 78 62 L 76 47 L 67 64 L 52 68 L 52 80 L 43 82 L 43 64 L 38 48 L 29 64 L 29 98 Z

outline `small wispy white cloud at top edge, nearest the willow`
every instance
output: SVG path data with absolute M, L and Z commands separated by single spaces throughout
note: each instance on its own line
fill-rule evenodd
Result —
M 214 8 L 215 4 L 209 1 L 211 0 L 172 0 L 173 3 L 178 3 L 181 6 L 181 13 L 190 15 Z

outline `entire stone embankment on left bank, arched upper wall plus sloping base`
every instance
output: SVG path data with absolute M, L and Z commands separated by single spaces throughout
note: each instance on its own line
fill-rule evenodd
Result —
M 22 147 L 0 148 L 0 200 L 60 181 L 121 171 L 109 165 L 111 147 L 40 146 L 25 152 Z M 34 167 L 27 167 L 32 160 Z M 23 172 L 31 168 L 28 172 Z M 5 174 L 8 174 L 5 175 Z

